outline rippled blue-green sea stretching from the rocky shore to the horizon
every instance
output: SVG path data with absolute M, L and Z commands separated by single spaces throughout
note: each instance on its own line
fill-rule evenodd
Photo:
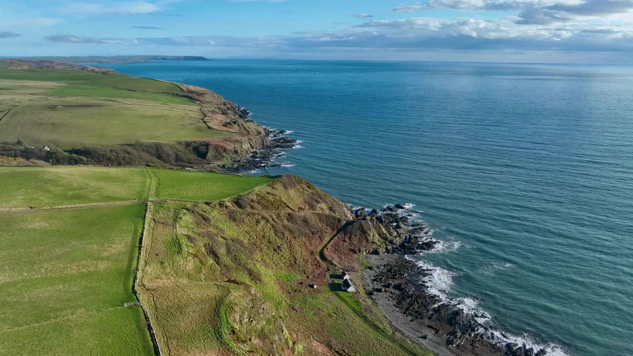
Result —
M 412 203 L 446 298 L 551 354 L 633 355 L 633 68 L 160 62 L 292 130 L 278 161 L 356 206 Z M 501 333 L 499 333 L 501 334 Z M 556 346 L 555 346 L 556 345 Z

